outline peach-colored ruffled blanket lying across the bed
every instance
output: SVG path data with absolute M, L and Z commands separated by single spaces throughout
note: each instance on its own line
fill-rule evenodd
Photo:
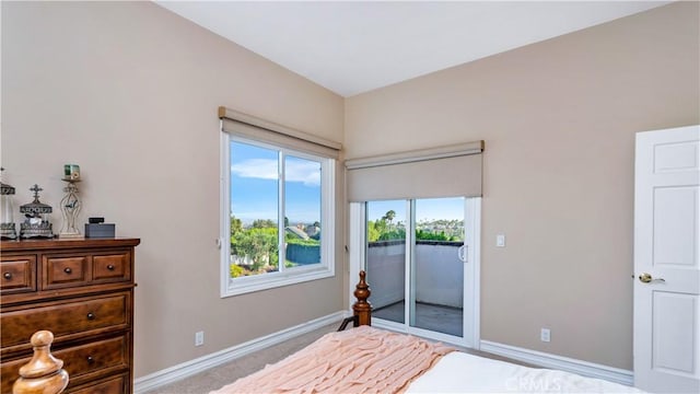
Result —
M 370 326 L 326 334 L 210 394 L 400 393 L 454 349 Z

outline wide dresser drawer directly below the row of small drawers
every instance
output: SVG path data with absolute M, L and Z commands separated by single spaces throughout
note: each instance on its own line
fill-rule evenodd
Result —
M 52 302 L 16 311 L 3 312 L 2 350 L 9 347 L 27 347 L 37 329 L 54 333 L 55 343 L 91 335 L 109 329 L 130 327 L 131 293 L 115 293 L 109 297 L 82 298 Z

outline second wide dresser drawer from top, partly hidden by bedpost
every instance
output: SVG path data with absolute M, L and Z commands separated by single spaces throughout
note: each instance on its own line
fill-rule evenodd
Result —
M 101 373 L 114 373 L 129 368 L 128 340 L 126 336 L 103 339 L 85 345 L 51 351 L 54 357 L 63 361 L 63 369 L 70 375 L 71 386 L 79 385 L 88 378 Z M 2 393 L 10 393 L 12 384 L 20 375 L 20 368 L 31 357 L 3 362 L 1 368 Z

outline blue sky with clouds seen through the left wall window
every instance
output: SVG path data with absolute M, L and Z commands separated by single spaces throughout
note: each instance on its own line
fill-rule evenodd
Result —
M 278 218 L 279 153 L 231 142 L 231 212 L 244 223 Z M 285 216 L 290 223 L 320 221 L 320 163 L 288 155 Z

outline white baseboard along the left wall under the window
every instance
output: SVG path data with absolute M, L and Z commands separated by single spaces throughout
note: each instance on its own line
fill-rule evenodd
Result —
M 183 362 L 180 364 L 166 368 L 164 370 L 153 372 L 145 376 L 141 376 L 133 381 L 133 393 L 142 394 L 149 390 L 158 389 L 166 384 L 177 382 L 178 380 L 203 372 L 210 368 L 221 366 L 252 352 L 265 349 L 267 347 L 280 344 L 284 340 L 298 337 L 300 335 L 318 329 L 323 326 L 338 323 L 349 315 L 347 311 L 339 311 L 327 316 L 315 318 L 311 322 L 300 324 L 298 326 L 282 329 L 280 332 L 248 340 L 241 345 L 219 350 L 217 352 L 196 358 L 194 360 Z

